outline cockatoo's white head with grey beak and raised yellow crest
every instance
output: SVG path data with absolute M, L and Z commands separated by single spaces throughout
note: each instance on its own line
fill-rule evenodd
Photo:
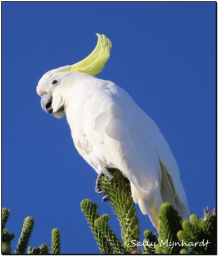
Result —
M 98 36 L 98 43 L 84 60 L 73 65 L 50 70 L 41 77 L 36 92 L 41 97 L 41 108 L 45 112 L 57 118 L 64 116 L 64 99 L 61 97 L 61 89 L 73 72 L 95 76 L 105 67 L 112 44 L 105 35 L 96 35 Z

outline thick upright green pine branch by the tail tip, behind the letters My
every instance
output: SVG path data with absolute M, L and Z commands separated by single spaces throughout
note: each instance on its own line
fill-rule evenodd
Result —
M 170 203 L 164 203 L 159 209 L 158 244 L 156 252 L 159 254 L 179 254 L 181 248 L 178 243 L 177 232 L 181 229 L 182 218 Z M 173 246 L 170 246 L 170 244 Z

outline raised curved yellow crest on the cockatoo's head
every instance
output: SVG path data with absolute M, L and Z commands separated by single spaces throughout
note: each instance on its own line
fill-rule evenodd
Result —
M 110 57 L 110 49 L 112 43 L 105 35 L 96 34 L 98 42 L 95 49 L 84 60 L 71 65 L 69 68 L 64 68 L 62 71 L 76 71 L 92 76 L 100 73 L 105 67 L 105 63 Z

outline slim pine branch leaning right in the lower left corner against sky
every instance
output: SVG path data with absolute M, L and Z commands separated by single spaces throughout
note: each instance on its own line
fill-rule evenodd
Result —
M 34 220 L 32 217 L 26 217 L 18 240 L 15 254 L 24 254 L 27 250 L 29 239 L 34 227 Z

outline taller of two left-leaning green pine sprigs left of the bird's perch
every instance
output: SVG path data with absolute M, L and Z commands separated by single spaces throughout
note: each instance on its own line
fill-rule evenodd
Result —
M 112 254 L 112 248 L 110 244 L 106 241 L 105 237 L 99 230 L 95 227 L 94 221 L 99 218 L 98 205 L 91 202 L 89 199 L 84 199 L 80 204 L 81 210 L 87 219 L 89 227 L 92 230 L 92 234 L 96 239 L 99 250 L 104 254 Z

